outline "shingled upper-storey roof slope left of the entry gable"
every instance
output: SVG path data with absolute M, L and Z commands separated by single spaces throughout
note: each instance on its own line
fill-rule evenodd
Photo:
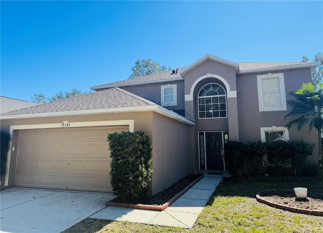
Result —
M 173 70 L 168 70 L 168 71 L 155 73 L 151 75 L 136 77 L 133 79 L 126 79 L 118 82 L 94 86 L 94 87 L 91 87 L 91 89 L 94 91 L 99 91 L 99 90 L 103 90 L 105 88 L 111 88 L 111 87 L 122 87 L 122 86 L 130 86 L 130 85 L 183 80 L 183 77 L 179 74 L 182 69 L 184 68 L 177 68 L 174 74 L 172 74 Z

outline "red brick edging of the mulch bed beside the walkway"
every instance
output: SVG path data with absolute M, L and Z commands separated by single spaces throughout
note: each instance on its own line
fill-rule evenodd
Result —
M 144 210 L 157 210 L 157 211 L 163 211 L 170 205 L 172 205 L 179 197 L 181 197 L 184 193 L 186 193 L 190 188 L 192 188 L 197 182 L 202 180 L 204 177 L 204 174 L 197 178 L 195 181 L 193 181 L 191 184 L 185 187 L 181 192 L 176 194 L 173 198 L 171 198 L 168 202 L 164 203 L 163 205 L 143 205 L 143 204 L 128 204 L 128 203 L 118 203 L 118 202 L 111 202 L 107 201 L 105 202 L 106 206 L 111 207 L 124 207 L 124 208 L 131 208 L 131 209 L 144 209 Z M 115 198 L 117 199 L 117 198 Z M 115 200 L 113 199 L 113 200 Z

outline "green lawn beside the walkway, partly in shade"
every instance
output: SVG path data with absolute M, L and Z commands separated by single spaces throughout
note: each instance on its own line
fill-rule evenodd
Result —
M 79 222 L 68 232 L 315 232 L 323 233 L 323 217 L 297 214 L 258 203 L 263 189 L 292 189 L 306 184 L 322 193 L 323 183 L 311 178 L 245 177 L 220 184 L 192 229 L 95 219 Z

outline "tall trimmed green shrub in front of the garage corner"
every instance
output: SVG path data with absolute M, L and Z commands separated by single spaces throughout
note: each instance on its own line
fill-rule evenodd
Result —
M 111 150 L 111 184 L 122 202 L 142 197 L 152 173 L 152 146 L 148 134 L 137 131 L 107 135 Z

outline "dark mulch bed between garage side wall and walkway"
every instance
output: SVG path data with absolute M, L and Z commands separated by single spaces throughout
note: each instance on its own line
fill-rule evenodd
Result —
M 134 202 L 131 202 L 131 204 L 143 204 L 154 206 L 163 205 L 202 175 L 203 174 L 190 174 L 189 176 L 174 183 L 171 187 L 165 189 L 164 191 L 161 191 L 153 195 L 152 197 L 142 197 Z M 120 200 L 119 198 L 116 198 L 112 202 L 120 202 Z

